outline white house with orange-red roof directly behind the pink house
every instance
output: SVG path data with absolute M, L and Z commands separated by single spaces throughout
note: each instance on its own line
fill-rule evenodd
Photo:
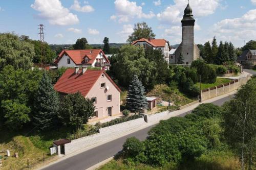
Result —
M 100 49 L 63 50 L 54 62 L 60 67 L 101 67 L 108 70 L 110 61 Z

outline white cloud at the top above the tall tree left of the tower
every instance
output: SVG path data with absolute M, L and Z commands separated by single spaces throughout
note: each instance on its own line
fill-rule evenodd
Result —
M 156 15 L 150 11 L 148 14 L 143 13 L 142 7 L 137 6 L 136 2 L 128 0 L 115 0 L 116 18 L 119 22 L 128 22 L 131 18 L 153 18 Z

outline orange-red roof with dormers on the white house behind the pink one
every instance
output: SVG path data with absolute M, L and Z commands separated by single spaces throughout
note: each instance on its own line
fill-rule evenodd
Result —
M 106 62 L 110 62 L 102 50 L 92 49 L 92 50 L 62 50 L 62 52 L 59 54 L 58 58 L 54 63 L 57 64 L 59 60 L 62 58 L 62 56 L 64 54 L 67 54 L 76 65 L 82 64 L 82 62 L 84 61 L 84 58 L 86 57 L 90 59 L 90 61 L 86 64 L 92 64 L 100 53 L 103 54 L 103 57 L 105 58 Z

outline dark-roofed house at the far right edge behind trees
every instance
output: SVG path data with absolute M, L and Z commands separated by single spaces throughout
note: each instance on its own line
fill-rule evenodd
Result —
M 256 50 L 245 50 L 238 57 L 238 63 L 242 65 L 256 65 Z

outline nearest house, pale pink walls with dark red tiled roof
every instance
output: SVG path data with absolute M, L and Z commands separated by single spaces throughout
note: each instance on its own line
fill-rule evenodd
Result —
M 104 70 L 86 67 L 69 68 L 54 85 L 60 94 L 81 92 L 84 98 L 94 100 L 95 112 L 90 122 L 120 115 L 120 88 Z

